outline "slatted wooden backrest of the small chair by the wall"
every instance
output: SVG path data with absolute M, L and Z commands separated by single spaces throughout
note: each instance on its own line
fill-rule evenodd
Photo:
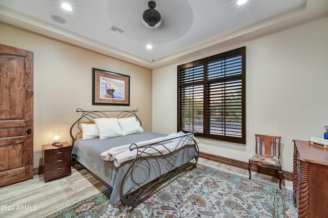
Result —
M 256 154 L 273 155 L 280 159 L 280 139 L 281 136 L 255 134 Z

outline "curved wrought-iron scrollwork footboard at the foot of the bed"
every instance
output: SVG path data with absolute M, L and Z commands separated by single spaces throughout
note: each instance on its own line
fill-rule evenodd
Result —
M 188 133 L 176 137 L 177 145 L 183 144 L 183 146 L 177 146 L 179 148 L 174 151 L 169 151 L 166 147 L 167 140 L 142 147 L 131 144 L 130 151 L 137 150 L 137 155 L 120 184 L 119 192 L 122 204 L 131 206 L 130 211 L 132 211 L 136 205 L 145 201 L 163 183 L 174 177 L 178 178 L 195 168 L 198 161 L 198 145 L 193 134 Z M 156 150 L 159 155 L 152 155 L 151 151 L 153 150 Z M 165 150 L 168 153 L 162 152 Z M 140 178 L 141 162 L 145 170 L 142 178 Z M 153 172 L 157 172 L 159 176 L 147 182 Z M 131 187 L 126 194 L 125 185 Z

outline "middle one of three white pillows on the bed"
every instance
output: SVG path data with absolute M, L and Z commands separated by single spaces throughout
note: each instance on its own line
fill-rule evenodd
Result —
M 99 139 L 125 135 L 118 125 L 117 118 L 94 119 L 99 131 Z

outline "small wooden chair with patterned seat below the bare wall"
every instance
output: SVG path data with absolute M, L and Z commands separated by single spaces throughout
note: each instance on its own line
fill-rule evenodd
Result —
M 279 174 L 279 188 L 281 189 L 282 169 L 280 164 L 280 139 L 281 136 L 269 136 L 255 134 L 255 155 L 249 160 L 248 171 L 251 179 L 251 165 L 275 169 Z M 264 144 L 263 144 L 264 142 Z

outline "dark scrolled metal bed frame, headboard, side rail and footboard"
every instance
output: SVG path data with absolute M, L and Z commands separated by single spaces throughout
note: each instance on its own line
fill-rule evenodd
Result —
M 72 137 L 73 144 L 78 138 L 82 137 L 81 123 L 89 123 L 89 124 L 94 123 L 93 119 L 95 119 L 95 118 L 106 118 L 106 117 L 107 118 L 109 118 L 109 117 L 124 118 L 124 117 L 135 116 L 141 125 L 141 121 L 140 121 L 139 117 L 136 115 L 137 111 L 138 111 L 138 109 L 133 110 L 133 111 L 84 111 L 80 108 L 76 109 L 76 112 L 82 113 L 82 114 L 76 120 L 76 122 L 72 125 L 72 127 L 70 129 L 70 135 Z M 111 116 L 111 114 L 117 114 L 117 115 Z M 176 137 L 175 139 L 179 140 L 179 143 L 185 143 L 186 145 L 183 146 L 183 148 L 180 148 L 180 149 L 172 151 L 172 152 L 170 152 L 164 145 L 167 140 L 157 141 L 155 143 L 147 144 L 146 146 L 142 146 L 142 147 L 137 147 L 135 143 L 132 143 L 130 146 L 130 151 L 136 150 L 137 155 L 132 160 L 132 163 L 131 163 L 128 171 L 125 173 L 125 175 L 120 183 L 119 193 L 120 193 L 120 199 L 121 199 L 122 205 L 131 206 L 130 211 L 132 211 L 136 205 L 138 205 L 142 201 L 145 201 L 150 195 L 152 195 L 152 193 L 155 190 L 160 188 L 160 186 L 163 183 L 165 183 L 166 181 L 168 181 L 172 178 L 178 178 L 178 177 L 188 173 L 193 168 L 195 168 L 197 161 L 198 161 L 198 151 L 199 150 L 198 150 L 197 142 L 194 140 L 194 137 L 193 137 L 194 133 L 195 132 L 188 133 L 186 135 L 183 135 L 182 137 Z M 187 150 L 191 147 L 194 147 L 194 149 L 196 151 L 196 155 L 192 156 L 192 157 L 188 153 L 189 150 Z M 168 151 L 168 154 L 162 154 L 161 152 L 159 152 L 158 148 L 164 148 L 165 150 Z M 156 150 L 160 154 L 152 155 L 149 153 L 150 150 Z M 187 153 L 185 153 L 186 150 L 187 150 Z M 185 162 L 182 165 L 179 165 L 179 164 L 176 165 L 176 163 L 175 163 L 178 152 L 182 152 L 182 157 L 186 158 L 186 160 L 182 160 L 182 163 Z M 147 158 L 145 157 L 145 154 L 147 155 Z M 162 157 L 162 159 L 165 160 L 167 165 L 170 167 L 168 172 L 165 172 L 165 171 L 161 172 L 162 169 L 160 167 L 158 160 L 156 159 L 157 157 Z M 100 154 L 99 154 L 99 158 L 100 158 Z M 148 161 L 148 158 L 155 159 L 155 162 L 157 163 L 156 167 L 159 168 L 159 171 L 160 171 L 160 173 L 159 173 L 160 176 L 158 178 L 152 180 L 151 182 L 147 183 L 146 185 L 142 185 L 143 183 L 145 183 L 145 181 L 147 181 L 147 179 L 149 179 L 150 173 L 152 170 L 152 165 Z M 134 175 L 133 172 L 135 170 L 135 167 L 137 167 L 137 163 L 140 160 L 147 162 L 147 164 L 149 166 L 149 172 L 146 175 L 146 178 L 144 181 L 137 182 L 133 177 L 133 175 Z M 192 161 L 189 161 L 189 160 L 192 160 Z M 76 162 L 77 161 L 75 160 L 75 155 L 72 155 L 72 166 L 73 167 Z M 87 169 L 87 171 L 89 171 L 89 169 Z M 92 172 L 90 172 L 90 173 L 93 176 L 95 176 L 98 180 L 103 182 L 104 184 L 107 184 L 105 181 L 101 180 L 99 177 L 97 177 Z M 133 180 L 135 185 L 133 187 L 131 187 L 130 191 L 125 195 L 123 192 L 123 187 L 124 187 L 124 184 L 127 182 L 128 177 L 129 178 L 131 177 L 131 179 Z

